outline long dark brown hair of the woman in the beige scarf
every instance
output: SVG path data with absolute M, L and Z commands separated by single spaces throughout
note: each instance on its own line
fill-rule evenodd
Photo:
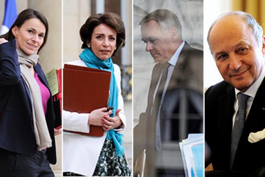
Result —
M 36 10 L 28 8 L 28 9 L 25 9 L 22 12 L 20 12 L 20 14 L 17 16 L 17 19 L 14 22 L 14 24 L 10 27 L 9 31 L 6 34 L 3 34 L 0 37 L 1 38 L 5 38 L 8 41 L 10 41 L 12 39 L 15 39 L 15 36 L 12 33 L 12 28 L 15 27 L 15 26 L 20 28 L 25 23 L 26 20 L 29 20 L 29 19 L 32 19 L 32 18 L 39 19 L 43 23 L 43 25 L 45 26 L 45 29 L 46 29 L 45 36 L 43 38 L 43 43 L 39 47 L 39 50 L 38 50 L 38 53 L 39 53 L 39 51 L 42 49 L 42 47 L 46 44 L 49 27 L 48 27 L 48 21 L 45 18 L 45 16 L 42 15 L 40 12 L 38 12 Z

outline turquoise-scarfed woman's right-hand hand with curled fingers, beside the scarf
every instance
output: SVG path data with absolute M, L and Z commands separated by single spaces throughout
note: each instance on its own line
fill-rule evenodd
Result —
M 121 109 L 118 109 L 113 117 L 105 116 L 104 119 L 102 119 L 102 128 L 107 131 L 113 128 L 118 128 L 122 122 L 121 118 L 119 116 L 119 112 Z

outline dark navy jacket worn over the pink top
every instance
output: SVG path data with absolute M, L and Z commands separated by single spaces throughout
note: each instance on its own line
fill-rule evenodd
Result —
M 16 41 L 11 40 L 1 44 L 0 54 L 0 150 L 2 148 L 32 156 L 37 152 L 32 122 L 32 105 L 29 89 L 20 75 Z M 42 83 L 48 88 L 39 63 L 34 66 L 34 70 L 39 75 Z M 52 139 L 52 147 L 47 148 L 47 156 L 50 163 L 55 164 L 54 127 L 60 125 L 54 124 L 55 115 L 52 97 L 48 100 L 45 116 Z

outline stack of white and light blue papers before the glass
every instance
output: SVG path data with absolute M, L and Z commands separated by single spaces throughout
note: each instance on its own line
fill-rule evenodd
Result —
M 203 177 L 203 134 L 189 134 L 179 143 L 186 177 Z

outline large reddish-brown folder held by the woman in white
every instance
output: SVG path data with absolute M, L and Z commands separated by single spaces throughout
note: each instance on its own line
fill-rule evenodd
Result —
M 63 69 L 63 108 L 78 113 L 90 113 L 107 107 L 111 72 L 65 64 Z M 89 133 L 68 131 L 89 136 L 103 136 L 101 126 L 90 125 Z

